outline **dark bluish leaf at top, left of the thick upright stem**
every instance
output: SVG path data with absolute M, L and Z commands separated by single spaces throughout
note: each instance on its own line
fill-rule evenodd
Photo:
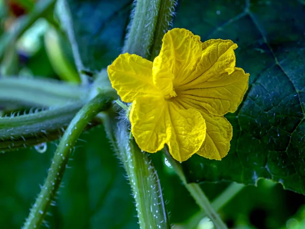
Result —
M 69 15 L 63 15 L 62 20 L 70 35 L 73 52 L 78 52 L 81 65 L 85 68 L 100 71 L 120 53 L 133 1 L 63 2 L 67 3 L 70 11 L 71 18 L 67 20 L 65 17 Z M 77 65 L 78 68 L 83 67 Z

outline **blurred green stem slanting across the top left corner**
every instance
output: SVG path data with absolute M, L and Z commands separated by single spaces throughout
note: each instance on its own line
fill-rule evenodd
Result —
M 39 17 L 46 14 L 47 11 L 52 9 L 56 0 L 40 0 L 31 13 L 20 18 L 17 26 L 9 34 L 3 34 L 0 37 L 0 58 L 4 54 L 7 47 L 16 41 Z

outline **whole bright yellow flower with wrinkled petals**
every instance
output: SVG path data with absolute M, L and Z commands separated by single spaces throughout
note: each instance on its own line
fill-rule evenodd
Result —
M 141 150 L 168 145 L 178 161 L 194 153 L 221 160 L 230 149 L 234 112 L 248 89 L 249 74 L 235 67 L 231 40 L 208 40 L 184 28 L 164 35 L 159 56 L 150 62 L 121 54 L 108 67 L 112 87 L 132 102 L 131 132 Z

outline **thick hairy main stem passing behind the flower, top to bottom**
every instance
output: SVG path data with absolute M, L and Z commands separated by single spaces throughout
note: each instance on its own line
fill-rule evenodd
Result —
M 164 4 L 173 3 L 174 1 L 166 0 L 137 0 L 123 53 L 129 52 L 150 59 L 150 51 L 157 49 L 154 44 L 161 43 L 171 21 L 170 16 L 163 17 L 160 13 L 172 15 L 174 5 L 165 7 Z M 124 122 L 112 122 L 112 125 L 105 124 L 105 129 L 112 136 L 110 139 L 115 142 L 117 154 L 127 171 L 140 228 L 170 228 L 157 171 L 149 155 L 141 152 L 135 141 L 130 139 L 127 125 Z

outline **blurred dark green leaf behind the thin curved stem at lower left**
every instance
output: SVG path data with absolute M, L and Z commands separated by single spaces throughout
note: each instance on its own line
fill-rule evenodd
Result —
M 138 228 L 124 168 L 111 151 L 103 128 L 80 137 L 56 205 L 46 218 L 50 228 Z M 20 228 L 50 166 L 55 144 L 44 154 L 20 150 L 0 154 L 0 225 Z M 12 191 L 13 190 L 13 191 Z

